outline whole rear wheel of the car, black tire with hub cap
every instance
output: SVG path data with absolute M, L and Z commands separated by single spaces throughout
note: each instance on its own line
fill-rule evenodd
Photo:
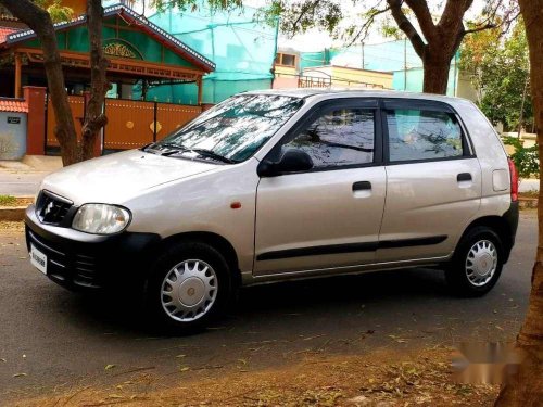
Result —
M 502 274 L 504 250 L 500 236 L 491 228 L 468 230 L 456 246 L 445 269 L 452 291 L 460 296 L 481 296 L 495 285 Z

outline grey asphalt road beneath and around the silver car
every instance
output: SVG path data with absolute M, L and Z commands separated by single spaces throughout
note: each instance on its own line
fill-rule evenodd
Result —
M 513 340 L 527 307 L 535 237 L 534 215 L 523 213 L 502 279 L 482 298 L 449 295 L 434 270 L 299 281 L 245 289 L 217 326 L 164 338 L 142 328 L 131 300 L 66 292 L 28 264 L 21 233 L 0 234 L 0 399 L 127 380 L 141 368 L 178 378 L 179 367 L 189 366 L 182 374 L 190 379 L 290 364 L 312 353 Z

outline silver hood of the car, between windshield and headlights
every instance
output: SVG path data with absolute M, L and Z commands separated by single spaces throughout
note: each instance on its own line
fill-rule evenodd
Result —
M 143 190 L 219 167 L 214 163 L 130 150 L 62 168 L 47 176 L 41 189 L 67 198 L 76 205 L 121 204 Z

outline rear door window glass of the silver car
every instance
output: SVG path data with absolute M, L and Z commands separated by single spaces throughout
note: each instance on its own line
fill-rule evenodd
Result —
M 391 162 L 447 158 L 464 154 L 462 128 L 454 114 L 388 110 Z

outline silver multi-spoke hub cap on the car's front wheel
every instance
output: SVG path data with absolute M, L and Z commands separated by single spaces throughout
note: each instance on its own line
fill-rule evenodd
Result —
M 162 282 L 161 301 L 166 314 L 180 322 L 203 317 L 217 297 L 215 270 L 202 260 L 185 260 Z

